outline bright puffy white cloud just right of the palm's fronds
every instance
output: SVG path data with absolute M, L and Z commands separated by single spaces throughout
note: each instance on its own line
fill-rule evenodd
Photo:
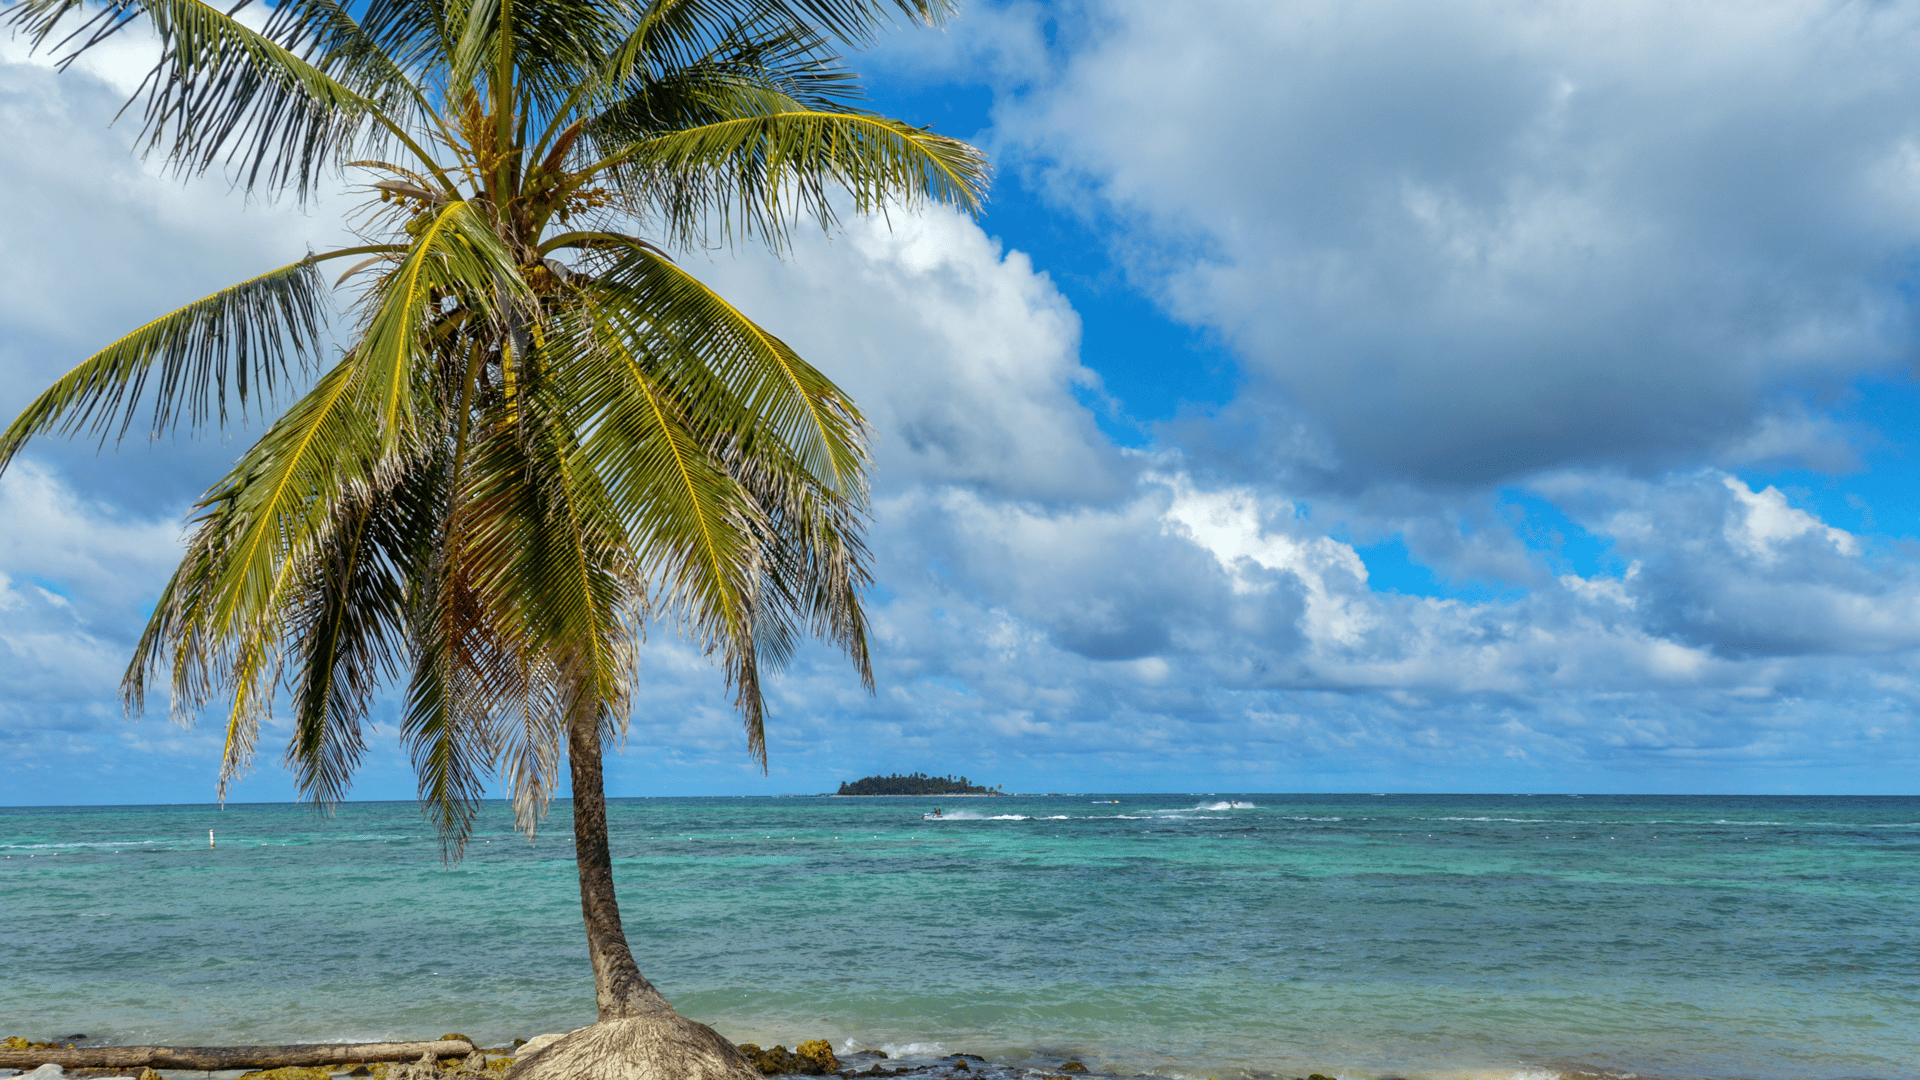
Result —
M 787 261 L 689 265 L 852 392 L 876 427 L 879 490 L 1125 492 L 1133 467 L 1075 398 L 1098 390 L 1079 363 L 1079 317 L 1027 256 L 958 213 L 852 219 L 833 238 L 803 236 Z

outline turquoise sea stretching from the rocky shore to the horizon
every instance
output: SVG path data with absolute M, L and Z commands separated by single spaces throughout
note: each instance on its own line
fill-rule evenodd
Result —
M 739 1042 L 1920 1078 L 1920 798 L 620 799 L 611 826 L 641 970 Z M 411 803 L 0 809 L 0 1034 L 568 1030 L 570 853 L 564 803 L 532 846 L 488 805 L 451 871 Z

